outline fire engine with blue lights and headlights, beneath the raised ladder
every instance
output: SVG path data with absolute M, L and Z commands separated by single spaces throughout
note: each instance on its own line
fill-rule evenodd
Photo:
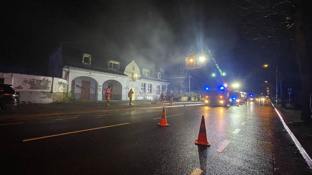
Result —
M 205 105 L 212 106 L 227 106 L 228 104 L 228 93 L 227 90 L 221 91 L 220 89 L 210 89 L 205 92 L 203 99 Z

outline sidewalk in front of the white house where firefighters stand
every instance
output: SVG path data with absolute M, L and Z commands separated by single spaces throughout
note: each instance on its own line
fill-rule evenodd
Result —
M 165 102 L 166 103 L 166 102 Z M 177 102 L 173 106 L 202 104 L 198 102 Z M 52 116 L 81 115 L 90 113 L 103 113 L 112 111 L 138 110 L 142 108 L 169 106 L 168 104 L 151 104 L 150 101 L 132 102 L 129 106 L 128 101 L 111 101 L 107 107 L 105 101 L 81 101 L 74 103 L 49 103 L 49 104 L 25 104 L 15 109 L 0 111 L 0 121 L 23 120 L 32 118 L 44 118 Z

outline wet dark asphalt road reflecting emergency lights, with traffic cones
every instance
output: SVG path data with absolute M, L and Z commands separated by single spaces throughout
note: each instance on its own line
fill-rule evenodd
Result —
M 280 127 L 270 103 L 167 108 L 170 126 L 166 127 L 157 125 L 161 113 L 162 110 L 151 109 L 14 121 L 18 124 L 12 125 L 0 123 L 1 171 L 190 174 L 200 168 L 202 174 L 311 173 Z M 202 115 L 211 142 L 208 148 L 194 144 Z M 111 127 L 101 128 L 105 126 Z M 57 135 L 73 131 L 79 132 Z M 57 136 L 23 142 L 49 135 Z M 228 145 L 220 153 L 225 143 Z M 293 163 L 285 164 L 284 157 Z

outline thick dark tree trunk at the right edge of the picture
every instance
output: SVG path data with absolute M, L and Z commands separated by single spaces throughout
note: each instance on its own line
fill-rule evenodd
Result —
M 302 114 L 301 120 L 310 121 L 310 94 L 312 91 L 311 81 L 311 59 L 309 59 L 307 53 L 307 42 L 305 39 L 304 31 L 304 15 L 303 15 L 303 4 L 299 4 L 296 10 L 296 24 L 295 24 L 295 40 L 297 46 L 297 63 L 301 77 L 301 102 L 302 102 Z

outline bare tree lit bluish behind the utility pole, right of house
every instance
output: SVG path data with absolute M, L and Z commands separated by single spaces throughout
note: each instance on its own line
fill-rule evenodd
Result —
M 189 76 L 189 73 L 184 67 L 180 67 L 179 69 L 177 69 L 175 75 L 176 78 L 174 78 L 174 84 L 181 96 L 182 91 L 184 91 L 187 87 L 188 83 L 186 77 Z

